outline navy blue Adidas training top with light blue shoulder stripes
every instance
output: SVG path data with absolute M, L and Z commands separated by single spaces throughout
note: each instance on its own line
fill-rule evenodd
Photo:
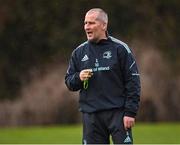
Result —
M 92 69 L 88 88 L 83 88 L 79 73 Z M 134 117 L 140 101 L 140 77 L 136 61 L 124 42 L 109 36 L 98 43 L 86 41 L 73 52 L 65 76 L 69 90 L 80 90 L 79 110 L 97 112 L 124 109 Z

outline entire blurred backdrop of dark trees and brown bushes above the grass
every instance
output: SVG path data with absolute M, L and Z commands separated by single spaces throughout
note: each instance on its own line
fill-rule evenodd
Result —
M 1 125 L 79 121 L 64 74 L 93 7 L 108 13 L 109 34 L 133 48 L 142 76 L 138 119 L 180 120 L 179 0 L 1 0 Z

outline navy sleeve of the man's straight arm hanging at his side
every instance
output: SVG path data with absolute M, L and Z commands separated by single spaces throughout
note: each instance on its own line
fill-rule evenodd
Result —
M 120 59 L 126 96 L 125 116 L 135 117 L 140 102 L 140 74 L 136 61 L 129 48 L 122 49 Z

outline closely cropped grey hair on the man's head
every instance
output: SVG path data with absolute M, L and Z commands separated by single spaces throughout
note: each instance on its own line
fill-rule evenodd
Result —
M 104 23 L 108 23 L 108 15 L 107 13 L 101 9 L 101 8 L 93 8 L 93 9 L 90 9 L 87 14 L 89 13 L 93 13 L 93 12 L 97 12 L 98 13 L 98 16 L 97 16 L 97 19 L 104 22 Z

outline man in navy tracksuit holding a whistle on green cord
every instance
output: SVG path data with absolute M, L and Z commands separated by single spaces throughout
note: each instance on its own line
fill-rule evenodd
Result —
M 132 144 L 131 128 L 140 100 L 140 79 L 128 46 L 107 34 L 100 8 L 85 15 L 87 41 L 72 53 L 65 83 L 80 90 L 84 144 Z

